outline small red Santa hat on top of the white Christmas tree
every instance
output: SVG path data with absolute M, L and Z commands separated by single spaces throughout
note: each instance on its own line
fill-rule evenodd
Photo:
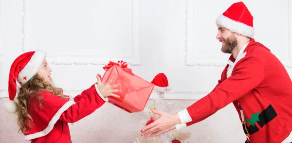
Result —
M 158 73 L 153 80 L 151 81 L 154 84 L 154 90 L 159 92 L 166 92 L 171 90 L 171 87 L 168 86 L 168 80 L 164 73 Z

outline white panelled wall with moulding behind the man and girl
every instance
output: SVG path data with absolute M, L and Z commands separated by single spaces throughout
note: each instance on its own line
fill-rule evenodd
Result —
M 71 95 L 93 84 L 110 60 L 127 61 L 148 81 L 164 72 L 172 87 L 165 98 L 183 108 L 217 84 L 229 55 L 220 51 L 215 19 L 237 1 L 1 0 L 0 143 L 23 143 L 15 115 L 3 110 L 9 69 L 19 54 L 47 51 L 55 84 Z M 292 0 L 243 1 L 254 16 L 256 41 L 271 49 L 291 75 Z M 71 127 L 73 141 L 131 143 L 141 129 L 135 126 L 147 118 L 143 115 L 106 104 Z M 245 141 L 232 105 L 187 129 L 190 143 Z

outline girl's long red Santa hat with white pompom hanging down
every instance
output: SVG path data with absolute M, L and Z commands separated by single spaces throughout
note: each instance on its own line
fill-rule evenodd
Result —
M 20 85 L 27 83 L 27 81 L 37 74 L 45 57 L 46 53 L 38 50 L 19 55 L 12 63 L 8 79 L 8 94 L 10 101 L 5 104 L 5 109 L 8 113 L 15 113 L 18 107 L 17 102 L 14 101 L 17 92 L 16 80 Z

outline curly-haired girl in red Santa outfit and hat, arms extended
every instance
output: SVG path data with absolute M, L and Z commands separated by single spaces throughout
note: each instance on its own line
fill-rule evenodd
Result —
M 74 123 L 101 107 L 108 96 L 117 96 L 117 85 L 97 84 L 75 98 L 63 94 L 51 83 L 52 70 L 43 51 L 21 54 L 13 62 L 8 83 L 10 102 L 6 110 L 18 114 L 19 131 L 31 143 L 72 143 L 68 123 Z M 17 88 L 17 102 L 14 101 Z

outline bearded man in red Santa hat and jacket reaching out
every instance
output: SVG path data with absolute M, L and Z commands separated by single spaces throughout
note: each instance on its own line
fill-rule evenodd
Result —
M 243 2 L 232 4 L 216 19 L 221 51 L 232 54 L 218 85 L 193 105 L 159 118 L 142 136 L 157 136 L 200 122 L 233 102 L 246 143 L 292 142 L 292 81 L 281 62 L 253 39 L 253 16 Z

